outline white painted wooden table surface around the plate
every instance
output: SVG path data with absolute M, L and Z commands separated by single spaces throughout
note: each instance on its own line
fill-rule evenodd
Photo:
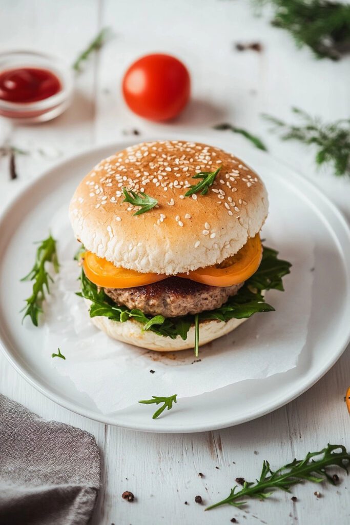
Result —
M 348 118 L 350 59 L 336 64 L 314 60 L 309 50 L 296 50 L 290 36 L 270 27 L 267 19 L 254 18 L 249 2 L 243 0 L 4 1 L 3 49 L 45 50 L 73 61 L 101 27 L 112 27 L 114 38 L 79 76 L 73 105 L 61 117 L 13 129 L 0 122 L 0 142 L 9 139 L 33 152 L 18 157 L 17 181 L 8 180 L 8 159 L 0 159 L 1 202 L 63 156 L 113 142 L 133 128 L 140 130 L 141 140 L 146 133 L 160 136 L 173 128 L 196 132 L 228 121 L 260 135 L 272 155 L 321 186 L 349 219 L 350 181 L 336 179 L 331 170 L 316 172 L 313 152 L 269 135 L 259 114 L 291 120 L 294 105 L 328 120 Z M 260 54 L 234 49 L 236 41 L 257 40 L 264 48 Z M 126 67 L 151 51 L 177 55 L 192 74 L 192 103 L 172 125 L 138 119 L 121 97 Z M 232 150 L 241 140 L 232 134 Z M 40 149 L 45 155 L 38 153 Z M 0 391 L 40 416 L 78 426 L 96 437 L 102 477 L 94 525 L 229 523 L 233 517 L 247 525 L 345 524 L 350 522 L 350 482 L 344 476 L 339 487 L 295 487 L 296 502 L 287 493 L 276 493 L 268 501 L 249 502 L 245 511 L 222 507 L 203 512 L 194 498 L 200 495 L 205 503 L 213 503 L 226 497 L 237 476 L 258 476 L 263 459 L 277 467 L 327 442 L 349 449 L 350 419 L 343 402 L 350 384 L 348 350 L 319 383 L 287 406 L 256 421 L 203 434 L 142 434 L 90 421 L 47 400 L 2 355 Z M 122 500 L 124 490 L 131 490 L 136 501 Z M 315 490 L 322 493 L 320 499 Z

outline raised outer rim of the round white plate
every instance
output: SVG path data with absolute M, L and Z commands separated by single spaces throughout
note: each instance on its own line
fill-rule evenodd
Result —
M 151 137 L 145 136 L 145 137 L 142 137 L 142 142 L 153 141 L 153 140 L 195 140 L 196 142 L 203 140 L 203 142 L 206 142 L 208 138 L 209 137 L 206 137 L 206 135 L 197 135 L 197 134 L 188 133 L 188 132 L 185 132 L 185 133 L 176 132 L 176 133 L 171 133 L 171 134 L 164 133 L 162 134 L 162 139 L 155 139 L 154 137 L 152 137 L 152 135 Z M 109 149 L 109 148 L 113 151 L 113 149 L 115 150 L 116 144 L 119 144 L 118 147 L 120 148 L 120 145 L 122 144 L 130 144 L 130 143 L 137 143 L 137 142 L 138 141 L 132 140 L 132 138 L 130 138 L 130 140 L 128 138 L 121 138 L 120 140 L 117 139 L 116 141 L 113 141 L 112 143 L 94 145 L 92 148 L 91 147 L 83 148 L 79 150 L 78 153 L 73 153 L 71 155 L 68 155 L 64 160 L 54 163 L 53 165 L 49 167 L 49 169 L 46 169 L 43 172 L 41 172 L 33 180 L 29 180 L 26 183 L 24 183 L 22 187 L 19 189 L 19 191 L 16 193 L 16 195 L 14 197 L 10 197 L 9 202 L 4 206 L 3 210 L 0 213 L 0 224 L 3 222 L 3 220 L 7 216 L 10 209 L 17 204 L 17 202 L 23 197 L 23 195 L 27 191 L 29 191 L 30 188 L 40 183 L 40 181 L 42 181 L 43 179 L 49 178 L 50 172 L 52 170 L 57 170 L 59 167 L 62 167 L 62 169 L 64 170 L 65 165 L 69 165 L 72 161 L 79 161 L 80 158 L 83 158 L 83 156 L 87 154 L 91 154 L 91 153 L 102 151 L 102 150 Z M 210 139 L 209 139 L 209 142 L 210 142 Z M 249 150 L 249 148 L 246 148 L 246 149 Z M 350 246 L 350 226 L 347 222 L 346 217 L 341 212 L 341 210 L 331 201 L 331 199 L 328 198 L 327 195 L 325 195 L 323 191 L 320 190 L 320 188 L 316 186 L 314 182 L 310 181 L 308 178 L 301 175 L 296 169 L 284 163 L 284 161 L 276 158 L 273 155 L 258 152 L 255 150 L 254 150 L 254 154 L 256 154 L 257 156 L 261 156 L 261 159 L 263 159 L 263 155 L 268 155 L 270 158 L 270 161 L 274 163 L 278 163 L 279 165 L 283 166 L 285 171 L 287 171 L 292 176 L 292 180 L 295 180 L 295 179 L 298 180 L 304 186 L 306 186 L 306 188 L 307 187 L 311 188 L 311 191 L 314 192 L 316 196 L 318 196 L 319 198 L 322 198 L 323 202 L 328 207 L 328 211 L 331 211 L 331 213 L 333 213 L 333 216 L 338 221 L 338 225 L 343 228 L 343 232 L 347 236 L 347 240 Z M 334 231 L 334 228 L 332 227 L 328 219 L 324 216 L 319 206 L 316 206 L 316 208 L 317 208 L 317 211 L 323 216 L 328 227 L 331 227 L 331 229 Z M 337 234 L 336 234 L 336 238 L 337 240 L 339 240 Z M 347 277 L 347 281 L 350 282 L 350 269 L 347 271 L 346 277 Z M 115 421 L 113 417 L 109 417 L 108 415 L 104 415 L 102 413 L 98 413 L 96 411 L 92 411 L 90 409 L 81 407 L 80 405 L 72 401 L 65 400 L 65 398 L 60 397 L 59 395 L 56 395 L 53 391 L 50 391 L 49 388 L 37 382 L 36 379 L 31 376 L 30 372 L 26 371 L 25 368 L 22 366 L 22 364 L 17 362 L 15 357 L 12 355 L 12 352 L 7 348 L 7 345 L 1 333 L 0 333 L 0 350 L 5 355 L 5 358 L 7 359 L 7 361 L 14 367 L 16 372 L 18 372 L 31 386 L 36 388 L 38 392 L 43 394 L 45 397 L 49 398 L 51 401 L 54 401 L 58 405 L 70 410 L 73 413 L 82 415 L 84 417 L 87 417 L 89 419 L 92 419 L 93 421 L 97 421 L 102 424 L 112 425 L 116 427 L 128 428 L 132 430 L 139 430 L 142 432 L 177 434 L 177 433 L 206 432 L 208 430 L 217 430 L 221 428 L 227 428 L 230 426 L 239 425 L 242 423 L 246 423 L 248 421 L 252 421 L 253 419 L 257 419 L 258 417 L 264 416 L 266 414 L 269 414 L 275 411 L 276 409 L 284 406 L 285 404 L 290 403 L 296 397 L 299 397 L 301 394 L 309 390 L 309 388 L 311 388 L 317 381 L 319 381 L 334 366 L 334 364 L 338 361 L 338 359 L 340 359 L 341 355 L 343 354 L 347 345 L 350 342 L 350 325 L 349 325 L 348 333 L 344 334 L 344 337 L 342 338 L 342 340 L 343 342 L 342 344 L 339 345 L 337 352 L 335 354 L 332 354 L 332 359 L 327 360 L 323 366 L 318 367 L 313 373 L 313 375 L 308 380 L 306 381 L 304 380 L 302 382 L 299 388 L 296 388 L 296 390 L 294 390 L 293 388 L 293 394 L 288 394 L 287 392 L 286 394 L 284 394 L 284 396 L 281 399 L 275 402 L 269 403 L 269 405 L 267 405 L 266 408 L 261 408 L 258 412 L 257 411 L 253 411 L 253 412 L 250 411 L 249 413 L 246 412 L 245 416 L 240 416 L 239 418 L 236 417 L 234 419 L 228 418 L 225 421 L 222 421 L 221 423 L 214 423 L 214 424 L 192 423 L 190 427 L 188 426 L 188 424 L 184 426 L 182 426 L 181 424 L 180 425 L 177 424 L 175 426 L 172 426 L 169 424 L 163 424 L 161 423 L 161 420 L 158 421 L 160 425 L 157 425 L 156 427 L 154 426 L 154 422 L 152 424 L 152 420 L 150 424 L 131 423 L 129 421 L 123 421 L 123 417 L 122 417 L 123 411 L 116 412 L 117 414 L 119 414 L 119 416 L 118 416 L 118 421 Z

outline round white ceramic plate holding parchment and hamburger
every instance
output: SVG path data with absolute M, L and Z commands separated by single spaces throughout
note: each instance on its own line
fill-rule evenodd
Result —
M 232 150 L 233 140 L 229 134 L 216 133 L 210 137 L 183 134 L 181 139 Z M 211 393 L 183 398 L 181 410 L 173 410 L 169 413 L 171 417 L 158 419 L 155 425 L 150 412 L 138 404 L 111 416 L 101 414 L 67 377 L 40 359 L 38 348 L 42 333 L 31 330 L 28 335 L 18 313 L 18 305 L 23 301 L 19 277 L 25 275 L 32 264 L 29 254 L 33 254 L 33 240 L 47 236 L 53 211 L 69 202 L 74 188 L 91 166 L 131 142 L 135 141 L 96 148 L 63 162 L 29 184 L 2 213 L 0 340 L 7 359 L 30 384 L 60 405 L 102 423 L 137 430 L 168 433 L 212 430 L 249 421 L 288 403 L 331 368 L 349 341 L 350 232 L 340 212 L 310 182 L 267 154 L 249 147 L 236 148 L 235 153 L 259 172 L 268 189 L 274 187 L 274 194 L 293 199 L 295 214 L 290 220 L 301 221 L 300 235 L 305 232 L 315 243 L 311 317 L 298 365 L 268 379 L 242 381 Z M 278 217 L 269 220 L 278 220 Z M 285 235 L 288 236 L 288 230 Z M 294 238 L 295 242 L 298 239 Z

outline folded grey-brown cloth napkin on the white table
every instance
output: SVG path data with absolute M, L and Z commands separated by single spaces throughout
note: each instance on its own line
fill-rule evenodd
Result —
M 95 438 L 0 394 L 0 524 L 83 525 L 100 488 Z

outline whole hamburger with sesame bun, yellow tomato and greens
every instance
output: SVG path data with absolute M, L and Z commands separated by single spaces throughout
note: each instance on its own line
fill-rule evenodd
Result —
M 130 146 L 83 178 L 69 207 L 92 322 L 143 348 L 195 348 L 283 290 L 290 264 L 263 247 L 268 196 L 231 153 L 187 141 Z

